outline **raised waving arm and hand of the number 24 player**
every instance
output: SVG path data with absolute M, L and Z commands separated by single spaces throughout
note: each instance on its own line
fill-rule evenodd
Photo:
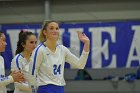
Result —
M 85 34 L 82 34 L 81 32 L 77 32 L 77 34 L 80 41 L 84 43 L 82 54 L 80 58 L 78 58 L 75 55 L 73 55 L 67 48 L 65 48 L 66 49 L 66 62 L 70 63 L 75 68 L 84 69 L 87 62 L 88 54 L 89 54 L 90 41 L 89 41 L 89 38 Z

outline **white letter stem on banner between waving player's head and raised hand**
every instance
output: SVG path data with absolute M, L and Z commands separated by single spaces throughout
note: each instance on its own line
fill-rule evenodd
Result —
M 78 38 L 77 31 L 83 32 L 83 28 L 68 29 L 68 32 L 70 33 L 70 48 L 69 49 L 73 54 L 79 57 L 80 56 L 80 40 Z

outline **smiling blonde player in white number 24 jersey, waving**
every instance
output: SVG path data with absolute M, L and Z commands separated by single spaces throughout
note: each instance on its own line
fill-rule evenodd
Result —
M 32 92 L 37 93 L 64 93 L 64 65 L 68 62 L 73 67 L 84 69 L 89 49 L 90 40 L 82 32 L 77 32 L 84 48 L 80 58 L 73 55 L 68 48 L 57 44 L 59 38 L 59 24 L 56 21 L 47 21 L 40 32 L 40 45 L 31 56 L 30 73 Z M 35 85 L 37 77 L 37 86 Z M 36 88 L 38 89 L 36 90 Z

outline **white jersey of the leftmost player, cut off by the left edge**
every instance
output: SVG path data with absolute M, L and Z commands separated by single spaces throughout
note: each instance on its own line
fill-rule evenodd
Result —
M 0 93 L 7 93 L 6 85 L 14 82 L 12 76 L 5 77 L 4 59 L 0 55 Z

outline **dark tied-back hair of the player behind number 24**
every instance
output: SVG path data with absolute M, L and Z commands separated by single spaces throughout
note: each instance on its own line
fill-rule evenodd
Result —
M 24 50 L 23 44 L 26 44 L 26 40 L 28 39 L 28 36 L 35 35 L 32 32 L 21 30 L 19 33 L 19 38 L 17 42 L 17 49 L 16 54 L 21 53 Z

